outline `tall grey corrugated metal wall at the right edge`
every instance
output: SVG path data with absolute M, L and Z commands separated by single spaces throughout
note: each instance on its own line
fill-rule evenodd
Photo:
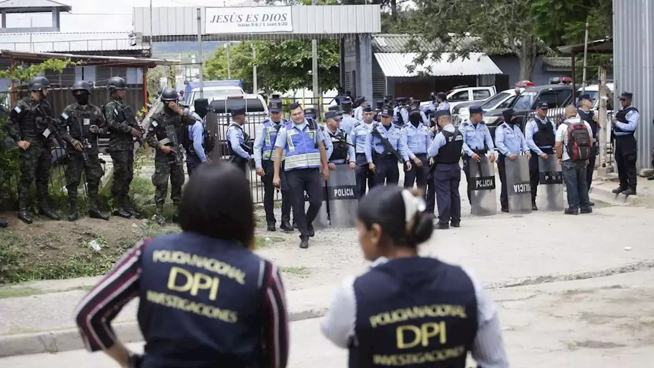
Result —
M 654 1 L 613 0 L 615 105 L 623 91 L 640 111 L 638 168 L 650 168 L 654 141 Z

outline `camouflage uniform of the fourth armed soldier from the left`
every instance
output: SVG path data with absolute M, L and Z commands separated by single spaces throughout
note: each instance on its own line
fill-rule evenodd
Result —
M 179 115 L 177 113 L 165 113 L 162 111 L 152 116 L 152 123 L 150 124 L 145 140 L 150 147 L 156 150 L 152 184 L 156 187 L 154 203 L 156 204 L 157 215 L 159 217 L 163 216 L 163 204 L 168 193 L 168 178 L 170 177 L 172 187 L 170 198 L 173 200 L 175 207 L 179 206 L 182 200 L 182 185 L 184 185 L 183 166 L 179 166 L 172 155 L 166 155 L 161 151 L 162 143 L 160 141 L 167 138 L 165 127 L 174 125 L 177 132 L 177 139 L 181 142 L 184 134 L 188 134 L 188 131 L 184 128 L 194 122 L 195 120 L 188 113 Z M 182 152 L 178 152 L 177 155 L 182 155 Z

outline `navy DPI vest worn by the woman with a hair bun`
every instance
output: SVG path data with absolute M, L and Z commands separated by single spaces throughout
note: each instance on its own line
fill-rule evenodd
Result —
M 466 367 L 477 300 L 462 268 L 433 258 L 394 259 L 356 278 L 354 296 L 350 367 Z

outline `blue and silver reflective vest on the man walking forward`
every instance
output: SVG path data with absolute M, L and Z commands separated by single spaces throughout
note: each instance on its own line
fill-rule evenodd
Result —
M 306 168 L 320 168 L 318 125 L 314 120 L 307 120 L 300 130 L 294 122 L 287 122 L 284 171 Z

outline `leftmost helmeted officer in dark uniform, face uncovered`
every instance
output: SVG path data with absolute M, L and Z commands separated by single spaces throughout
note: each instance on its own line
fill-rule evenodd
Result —
M 50 147 L 58 132 L 52 119 L 52 109 L 46 96 L 50 93 L 50 81 L 46 77 L 34 77 L 29 81 L 29 96 L 18 100 L 9 113 L 7 133 L 20 147 L 20 179 L 18 181 L 18 218 L 31 224 L 27 212 L 29 186 L 36 177 L 39 210 L 49 219 L 58 220 L 59 215 L 48 204 L 48 180 L 52 170 Z

